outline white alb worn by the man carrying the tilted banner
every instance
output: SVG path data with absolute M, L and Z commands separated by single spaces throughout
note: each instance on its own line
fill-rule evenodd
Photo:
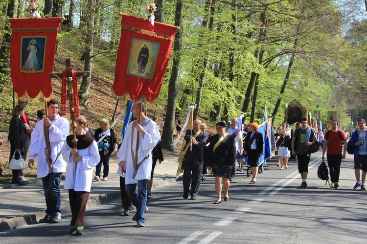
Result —
M 131 132 L 133 125 L 135 125 L 134 121 L 127 126 L 125 137 L 122 140 L 120 150 L 117 153 L 119 162 L 118 165 L 120 166 L 121 161 L 126 162 L 126 173 L 125 173 L 126 184 L 137 183 L 139 179 L 148 179 L 148 180 L 150 179 L 153 164 L 151 152 L 161 138 L 161 133 L 159 132 L 158 126 L 153 120 L 146 118 L 144 121 L 140 123 L 140 125 L 143 127 L 145 131 L 145 134 L 143 137 L 142 134 L 139 133 L 138 163 L 140 163 L 146 155 L 149 155 L 149 157 L 146 158 L 140 165 L 138 173 L 135 179 L 133 179 L 134 164 L 131 149 L 133 149 L 134 155 L 136 155 L 136 144 L 138 133 L 136 128 L 134 128 L 134 140 L 131 141 L 132 139 Z

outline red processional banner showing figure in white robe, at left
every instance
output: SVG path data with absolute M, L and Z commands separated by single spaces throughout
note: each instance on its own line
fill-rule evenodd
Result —
M 18 97 L 52 95 L 48 76 L 55 61 L 60 18 L 10 19 L 10 72 Z

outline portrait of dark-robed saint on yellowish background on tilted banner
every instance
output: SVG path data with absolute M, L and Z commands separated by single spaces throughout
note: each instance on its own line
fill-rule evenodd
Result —
M 127 74 L 152 79 L 160 44 L 132 38 Z

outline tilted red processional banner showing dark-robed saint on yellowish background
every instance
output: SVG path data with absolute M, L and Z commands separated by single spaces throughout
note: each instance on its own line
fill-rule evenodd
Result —
M 159 95 L 176 29 L 123 14 L 112 86 L 117 96 L 128 92 L 133 100 L 152 101 Z

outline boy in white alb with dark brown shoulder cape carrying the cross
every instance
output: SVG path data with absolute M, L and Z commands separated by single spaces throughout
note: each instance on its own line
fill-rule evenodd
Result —
M 100 156 L 98 145 L 91 133 L 85 132 L 87 119 L 84 116 L 75 118 L 76 123 L 76 144 L 77 149 L 73 149 L 73 135 L 66 138 L 61 152 L 65 161 L 69 163 L 65 177 L 64 189 L 69 190 L 69 201 L 71 208 L 71 222 L 73 226 L 70 233 L 74 235 L 84 234 L 84 216 L 89 193 L 92 186 L 93 167 L 95 167 Z

